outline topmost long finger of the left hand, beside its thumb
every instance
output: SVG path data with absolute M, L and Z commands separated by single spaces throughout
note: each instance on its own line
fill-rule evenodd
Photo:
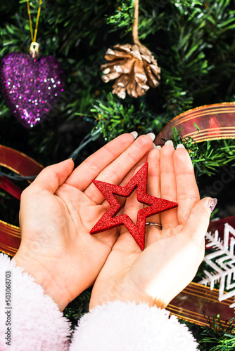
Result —
M 77 187 L 77 189 L 84 191 L 91 184 L 99 173 L 103 171 L 103 168 L 108 166 L 113 160 L 115 160 L 127 147 L 132 145 L 136 135 L 133 132 L 119 135 L 118 138 L 111 140 L 108 144 L 101 147 L 100 150 L 94 152 L 88 157 L 75 171 L 72 172 L 71 176 L 66 180 L 68 185 Z

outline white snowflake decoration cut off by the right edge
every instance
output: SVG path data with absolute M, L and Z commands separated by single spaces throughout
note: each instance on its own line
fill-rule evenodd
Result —
M 229 245 L 229 233 L 232 235 Z M 210 284 L 210 290 L 214 288 L 214 284 L 220 281 L 219 301 L 226 300 L 235 296 L 235 230 L 231 225 L 224 225 L 224 241 L 219 238 L 219 232 L 215 230 L 215 234 L 208 232 L 205 236 L 210 242 L 206 247 L 215 247 L 217 250 L 205 256 L 205 262 L 212 267 L 214 273 L 204 271 L 205 279 L 198 284 Z M 224 290 L 227 293 L 224 293 Z M 235 303 L 229 307 L 235 307 Z

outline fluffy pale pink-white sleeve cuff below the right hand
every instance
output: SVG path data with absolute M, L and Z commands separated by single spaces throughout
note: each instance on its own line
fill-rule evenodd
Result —
M 197 343 L 177 317 L 146 303 L 114 301 L 84 314 L 70 351 L 196 351 Z

